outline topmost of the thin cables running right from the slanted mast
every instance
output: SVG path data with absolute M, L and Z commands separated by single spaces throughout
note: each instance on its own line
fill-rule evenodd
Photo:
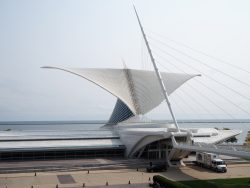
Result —
M 147 29 L 147 28 L 146 28 L 146 29 Z M 162 34 L 156 33 L 156 32 L 154 32 L 154 31 L 152 31 L 152 30 L 150 30 L 150 29 L 147 29 L 147 31 L 149 31 L 150 33 L 152 33 L 152 34 L 154 34 L 154 35 L 157 35 L 157 36 L 159 36 L 159 37 L 161 37 L 161 38 L 163 38 L 163 39 L 167 39 L 167 40 L 169 40 L 169 41 L 171 41 L 171 42 L 173 42 L 173 43 L 175 43 L 175 44 L 177 44 L 177 45 L 180 45 L 180 46 L 183 46 L 183 47 L 185 47 L 185 48 L 187 48 L 187 49 L 190 49 L 190 50 L 192 50 L 192 51 L 194 51 L 194 52 L 196 52 L 196 53 L 199 53 L 199 54 L 202 54 L 202 55 L 204 55 L 204 56 L 207 56 L 207 57 L 209 57 L 209 58 L 211 58 L 211 59 L 214 59 L 214 60 L 216 60 L 217 62 L 220 62 L 220 63 L 222 63 L 222 64 L 224 64 L 224 65 L 231 66 L 231 67 L 233 67 L 233 68 L 235 68 L 235 69 L 237 69 L 237 70 L 240 70 L 240 71 L 243 71 L 243 72 L 245 72 L 245 73 L 250 74 L 250 71 L 248 71 L 248 70 L 246 70 L 246 69 L 243 69 L 243 68 L 241 68 L 241 67 L 239 67 L 239 66 L 237 66 L 237 65 L 234 65 L 234 64 L 232 64 L 232 63 L 229 63 L 228 61 L 222 60 L 222 59 L 220 59 L 220 58 L 218 58 L 218 57 L 215 57 L 215 56 L 213 56 L 213 55 L 210 55 L 210 54 L 208 54 L 208 53 L 205 53 L 205 52 L 203 52 L 203 51 L 201 51 L 201 50 L 195 49 L 195 48 L 193 48 L 193 47 L 191 47 L 191 46 L 189 46 L 189 45 L 186 45 L 186 44 L 184 44 L 184 43 L 181 43 L 181 42 L 178 42 L 178 41 L 176 41 L 176 40 L 173 40 L 173 39 L 171 39 L 171 38 L 169 38 L 169 37 L 166 37 L 166 36 L 164 36 L 164 35 L 162 35 Z

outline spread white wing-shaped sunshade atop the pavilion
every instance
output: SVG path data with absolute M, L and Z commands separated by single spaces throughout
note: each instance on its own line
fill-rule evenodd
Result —
M 83 77 L 107 90 L 123 101 L 134 114 L 145 114 L 164 99 L 155 72 L 134 69 L 58 68 Z M 162 79 L 170 95 L 183 83 L 197 76 L 162 72 Z

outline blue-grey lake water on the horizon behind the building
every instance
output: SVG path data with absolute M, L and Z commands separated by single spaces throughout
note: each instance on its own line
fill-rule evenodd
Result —
M 9 130 L 10 132 L 23 132 L 23 131 L 46 131 L 56 134 L 56 131 L 96 131 L 100 133 L 99 128 L 105 124 L 104 121 L 39 121 L 39 122 L 0 122 L 0 131 Z M 211 120 L 189 120 L 179 122 L 181 128 L 214 128 L 219 129 L 229 128 L 242 130 L 242 133 L 237 136 L 238 144 L 244 143 L 247 132 L 250 131 L 249 120 L 223 120 L 213 122 Z M 95 134 L 94 132 L 92 132 Z

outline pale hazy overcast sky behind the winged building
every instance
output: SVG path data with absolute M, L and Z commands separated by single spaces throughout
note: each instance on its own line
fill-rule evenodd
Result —
M 124 59 L 129 68 L 152 69 L 133 3 L 155 59 L 167 68 L 160 70 L 202 73 L 171 96 L 177 119 L 250 119 L 249 0 L 0 0 L 0 121 L 108 119 L 112 95 L 75 75 L 40 67 L 122 68 Z M 165 103 L 148 116 L 169 119 Z

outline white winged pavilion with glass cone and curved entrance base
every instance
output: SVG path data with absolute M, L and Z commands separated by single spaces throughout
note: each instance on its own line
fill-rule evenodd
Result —
M 125 155 L 127 157 L 141 158 L 146 153 L 152 152 L 150 147 L 147 147 L 150 144 L 159 144 L 157 148 L 160 148 L 162 147 L 161 144 L 165 143 L 170 147 L 176 147 L 171 149 L 170 153 L 168 150 L 164 150 L 168 163 L 171 165 L 171 160 L 178 161 L 189 154 L 190 135 L 194 135 L 192 137 L 194 143 L 216 144 L 240 134 L 238 130 L 218 131 L 212 128 L 181 128 L 180 131 L 176 131 L 173 124 L 137 120 L 138 117 L 141 117 L 140 115 L 149 112 L 164 100 L 156 73 L 153 71 L 101 68 L 43 68 L 58 69 L 75 74 L 93 82 L 117 97 L 113 113 L 105 126 L 110 126 L 111 130 L 114 128 L 113 125 L 117 126 L 116 131 L 119 135 L 120 143 L 124 144 L 126 148 Z M 186 81 L 199 75 L 161 72 L 161 76 L 167 93 L 170 95 Z M 178 142 L 186 140 L 187 144 L 185 146 L 173 145 L 171 141 L 173 136 L 174 139 L 179 139 Z M 187 146 L 188 144 L 189 146 Z M 183 147 L 183 150 L 177 147 Z M 194 151 L 200 151 L 206 148 L 193 149 Z M 211 151 L 217 152 L 215 149 Z M 159 154 L 163 150 L 159 149 L 156 152 Z M 224 151 L 220 150 L 220 152 L 223 153 Z

